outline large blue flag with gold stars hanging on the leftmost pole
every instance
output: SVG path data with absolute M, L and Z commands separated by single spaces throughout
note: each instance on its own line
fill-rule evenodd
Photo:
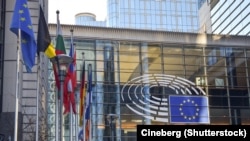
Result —
M 16 0 L 10 30 L 18 37 L 21 36 L 23 62 L 27 72 L 35 65 L 37 45 L 33 32 L 27 0 Z M 21 31 L 19 35 L 18 31 Z

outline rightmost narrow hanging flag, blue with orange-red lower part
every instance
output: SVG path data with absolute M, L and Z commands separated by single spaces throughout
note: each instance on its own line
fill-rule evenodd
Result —
M 88 65 L 88 93 L 85 105 L 85 141 L 90 139 L 90 109 L 92 103 L 92 66 Z

